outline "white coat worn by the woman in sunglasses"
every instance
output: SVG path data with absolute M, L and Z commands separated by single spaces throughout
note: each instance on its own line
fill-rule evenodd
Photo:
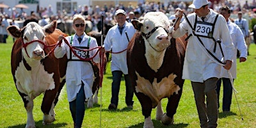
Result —
M 81 44 L 79 44 L 77 37 L 73 36 L 72 46 L 83 46 L 88 47 L 88 39 L 89 36 L 84 33 L 83 40 Z M 65 37 L 68 42 L 70 43 L 71 36 Z M 91 37 L 90 41 L 90 49 L 93 47 L 97 47 L 97 41 L 95 38 Z M 90 58 L 97 52 L 98 49 L 94 49 L 90 51 Z M 56 58 L 62 58 L 65 54 L 67 54 L 67 58 L 70 59 L 70 48 L 67 44 L 65 44 L 64 40 L 61 44 L 61 47 L 56 47 L 54 51 L 54 55 Z M 100 62 L 99 54 L 93 58 L 95 63 Z M 67 95 L 68 95 L 68 102 L 71 102 L 76 99 L 76 95 L 81 88 L 81 81 L 84 83 L 84 93 L 86 99 L 89 99 L 92 93 L 92 85 L 93 85 L 93 68 L 92 65 L 88 61 L 68 61 L 67 65 L 67 73 L 66 73 L 66 81 L 67 81 Z

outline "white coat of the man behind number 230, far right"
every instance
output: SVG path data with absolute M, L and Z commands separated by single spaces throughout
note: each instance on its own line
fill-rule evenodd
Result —
M 230 22 L 230 20 L 228 20 L 227 22 L 228 24 L 228 29 L 230 31 L 230 35 L 233 41 L 233 44 L 235 46 L 236 49 L 239 50 L 240 54 L 240 58 L 246 58 L 247 57 L 247 47 L 244 41 L 244 36 L 243 33 L 241 31 L 241 29 L 239 28 L 239 26 L 237 26 L 235 23 Z M 223 47 L 225 47 L 225 45 L 223 45 Z M 237 54 L 237 51 L 236 51 Z M 233 63 L 232 63 L 232 67 L 230 68 L 230 73 L 233 77 L 233 79 L 236 79 L 236 54 L 234 54 L 233 56 Z M 225 78 L 229 78 L 227 70 L 225 68 L 221 68 L 221 77 L 225 77 Z

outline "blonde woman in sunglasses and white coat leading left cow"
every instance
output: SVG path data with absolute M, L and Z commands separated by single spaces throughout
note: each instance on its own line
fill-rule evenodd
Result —
M 73 25 L 75 35 L 59 37 L 58 42 L 67 40 L 68 44 L 79 49 L 93 49 L 98 47 L 95 38 L 86 35 L 84 33 L 85 29 L 85 19 L 82 15 L 74 15 Z M 79 128 L 83 123 L 85 105 L 84 101 L 92 97 L 92 86 L 93 86 L 93 63 L 99 63 L 100 57 L 97 54 L 92 61 L 83 61 L 80 58 L 92 58 L 97 53 L 97 49 L 92 51 L 79 51 L 75 52 L 80 58 L 75 56 L 70 49 L 68 44 L 65 44 L 65 40 L 61 42 L 60 47 L 56 47 L 54 54 L 56 58 L 62 58 L 67 54 L 67 95 L 68 102 L 70 106 L 71 115 L 74 121 L 74 127 Z M 91 104 L 91 105 L 89 105 Z M 92 98 L 88 100 L 88 107 L 92 107 Z

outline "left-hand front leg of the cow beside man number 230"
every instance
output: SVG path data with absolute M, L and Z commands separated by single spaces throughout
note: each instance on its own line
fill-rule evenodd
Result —
M 143 94 L 143 93 L 135 93 L 135 95 L 137 96 L 138 100 L 140 101 L 141 104 L 141 108 L 142 108 L 142 115 L 145 118 L 144 121 L 144 128 L 152 128 L 154 127 L 154 124 L 151 120 L 151 112 L 152 112 L 152 101 L 151 99 Z

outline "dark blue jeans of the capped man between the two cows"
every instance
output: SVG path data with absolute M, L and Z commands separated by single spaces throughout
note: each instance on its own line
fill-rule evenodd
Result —
M 112 82 L 112 97 L 111 97 L 111 104 L 115 104 L 116 107 L 118 106 L 118 95 L 120 91 L 120 83 L 121 83 L 121 78 L 122 78 L 123 72 L 120 70 L 115 70 L 112 72 L 113 76 L 113 82 Z M 133 88 L 131 84 L 131 78 L 128 75 L 124 75 L 125 79 L 125 89 L 126 89 L 126 95 L 125 95 L 125 103 L 127 106 L 132 106 L 133 101 Z

